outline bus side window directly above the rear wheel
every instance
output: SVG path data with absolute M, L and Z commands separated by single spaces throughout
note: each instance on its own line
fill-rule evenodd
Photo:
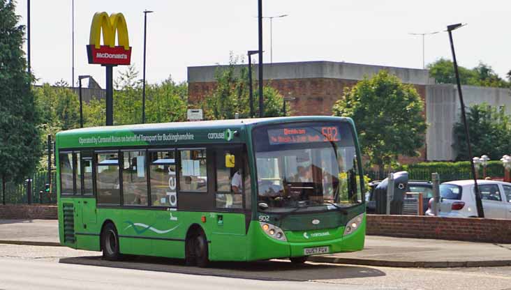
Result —
M 119 157 L 117 153 L 98 153 L 96 162 L 98 204 L 121 204 Z

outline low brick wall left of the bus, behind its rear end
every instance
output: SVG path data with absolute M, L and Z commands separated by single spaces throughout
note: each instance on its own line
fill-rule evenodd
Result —
M 57 206 L 45 204 L 0 204 L 2 220 L 57 220 Z

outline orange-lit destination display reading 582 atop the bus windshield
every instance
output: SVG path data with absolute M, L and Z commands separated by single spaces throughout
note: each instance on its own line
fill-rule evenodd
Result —
M 268 130 L 270 145 L 339 141 L 339 127 L 303 127 Z

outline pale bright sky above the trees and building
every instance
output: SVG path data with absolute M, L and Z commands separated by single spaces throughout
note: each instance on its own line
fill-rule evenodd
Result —
M 131 63 L 143 63 L 143 10 L 147 15 L 149 83 L 172 77 L 186 82 L 188 66 L 226 64 L 232 52 L 258 49 L 255 0 L 75 0 L 75 84 L 92 75 L 105 86 L 105 69 L 87 63 L 92 16 L 123 13 L 128 24 Z M 31 0 L 31 66 L 38 83 L 72 81 L 72 0 Z M 460 66 L 482 61 L 498 75 L 511 70 L 511 1 L 503 0 L 272 0 L 263 1 L 272 27 L 273 62 L 345 61 L 379 66 L 422 68 L 422 37 L 409 33 L 442 31 L 425 37 L 425 62 L 451 59 L 448 24 L 466 23 L 453 32 Z M 21 24 L 27 23 L 27 0 L 17 0 Z M 24 47 L 25 51 L 27 47 Z M 270 62 L 270 25 L 263 24 L 264 62 Z M 257 60 L 257 56 L 254 57 Z M 114 78 L 126 67 L 114 68 Z

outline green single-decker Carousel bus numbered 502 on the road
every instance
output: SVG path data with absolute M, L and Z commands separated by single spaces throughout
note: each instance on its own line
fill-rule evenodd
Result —
M 331 116 L 59 132 L 60 243 L 198 266 L 362 250 L 355 132 Z

